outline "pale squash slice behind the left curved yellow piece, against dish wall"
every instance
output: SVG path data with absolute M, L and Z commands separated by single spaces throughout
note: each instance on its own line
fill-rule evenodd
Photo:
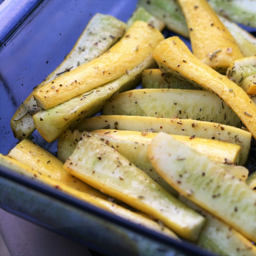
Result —
M 125 28 L 125 23 L 115 17 L 100 13 L 94 15 L 64 61 L 37 88 L 106 52 L 124 34 Z M 11 120 L 13 134 L 18 140 L 35 131 L 32 116 L 41 108 L 38 108 L 32 94 L 24 100 Z

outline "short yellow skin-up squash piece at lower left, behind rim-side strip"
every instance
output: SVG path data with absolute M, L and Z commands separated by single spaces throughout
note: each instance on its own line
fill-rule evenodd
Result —
M 15 148 L 9 152 L 8 156 L 73 189 L 101 198 L 108 198 L 78 178 L 72 177 L 72 175 L 64 170 L 61 160 L 29 139 L 25 139 L 16 145 Z

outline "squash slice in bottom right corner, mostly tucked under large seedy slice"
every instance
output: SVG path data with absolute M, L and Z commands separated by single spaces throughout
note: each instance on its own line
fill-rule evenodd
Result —
M 241 235 L 219 218 L 193 204 L 187 198 L 180 196 L 179 200 L 206 218 L 206 224 L 198 237 L 196 244 L 212 253 L 230 256 L 255 256 L 256 247 L 246 237 Z

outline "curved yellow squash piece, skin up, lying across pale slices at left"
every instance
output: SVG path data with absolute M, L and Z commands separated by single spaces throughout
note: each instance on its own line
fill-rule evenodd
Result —
M 119 78 L 151 55 L 163 39 L 158 29 L 136 21 L 107 52 L 39 88 L 34 93 L 38 106 L 43 109 L 55 107 Z

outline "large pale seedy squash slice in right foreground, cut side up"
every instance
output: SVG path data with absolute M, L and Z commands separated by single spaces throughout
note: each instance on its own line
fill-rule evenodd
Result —
M 152 140 L 148 156 L 181 195 L 256 241 L 256 193 L 247 184 L 169 134 Z

